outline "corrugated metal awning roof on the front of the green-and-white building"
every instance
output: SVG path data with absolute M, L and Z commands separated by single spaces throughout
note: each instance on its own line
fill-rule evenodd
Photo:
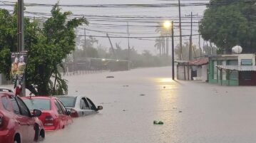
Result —
M 255 65 L 216 65 L 217 68 L 236 71 L 256 71 Z

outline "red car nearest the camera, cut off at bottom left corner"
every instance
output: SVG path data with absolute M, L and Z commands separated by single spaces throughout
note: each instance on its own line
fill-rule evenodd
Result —
M 13 92 L 0 92 L 0 142 L 31 143 L 45 137 L 40 110 L 31 113 Z

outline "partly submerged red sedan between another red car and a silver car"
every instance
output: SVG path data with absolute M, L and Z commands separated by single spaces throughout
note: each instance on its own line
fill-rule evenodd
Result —
M 39 119 L 45 130 L 63 129 L 72 123 L 70 112 L 56 97 L 22 97 L 30 110 L 42 111 Z

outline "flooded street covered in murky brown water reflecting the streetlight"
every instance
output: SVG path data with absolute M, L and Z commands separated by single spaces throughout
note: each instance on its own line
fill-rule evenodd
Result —
M 256 88 L 171 80 L 171 68 L 72 75 L 69 94 L 102 105 L 46 143 L 256 142 Z M 106 76 L 114 78 L 106 78 Z M 154 120 L 163 125 L 153 125 Z

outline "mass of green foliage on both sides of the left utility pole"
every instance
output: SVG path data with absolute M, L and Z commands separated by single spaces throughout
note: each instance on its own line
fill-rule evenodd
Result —
M 39 22 L 24 18 L 24 46 L 28 51 L 26 64 L 26 88 L 34 95 L 63 95 L 68 92 L 67 81 L 61 78 L 58 68 L 66 55 L 76 46 L 74 29 L 88 24 L 86 18 L 68 20 L 70 11 L 61 12 L 56 4 L 51 18 L 39 28 Z M 17 6 L 14 14 L 0 9 L 0 73 L 9 78 L 11 68 L 10 52 L 17 50 Z M 54 82 L 53 82 L 53 81 Z

